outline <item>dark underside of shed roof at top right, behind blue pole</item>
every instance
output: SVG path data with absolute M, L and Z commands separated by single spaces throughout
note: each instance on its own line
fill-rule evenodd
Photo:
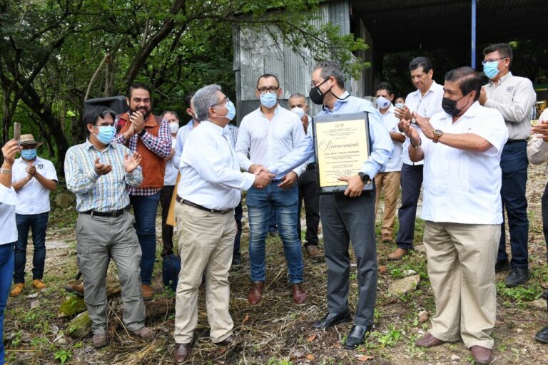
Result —
M 470 44 L 472 0 L 356 0 L 350 8 L 381 53 Z M 547 9 L 546 0 L 477 0 L 477 43 L 548 38 Z

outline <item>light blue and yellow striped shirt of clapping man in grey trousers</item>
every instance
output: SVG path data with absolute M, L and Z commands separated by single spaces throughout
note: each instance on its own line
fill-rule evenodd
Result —
M 126 173 L 123 160 L 131 151 L 118 143 L 111 143 L 104 150 L 97 150 L 89 140 L 68 148 L 65 156 L 66 187 L 76 194 L 76 210 L 86 212 L 111 212 L 129 205 L 129 187 L 137 187 L 143 181 L 141 166 Z M 112 171 L 106 175 L 95 172 L 95 160 L 110 163 Z

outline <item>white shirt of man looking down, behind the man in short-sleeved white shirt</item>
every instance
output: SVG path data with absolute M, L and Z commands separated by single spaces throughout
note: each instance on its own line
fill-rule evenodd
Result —
M 417 112 L 418 115 L 424 118 L 431 118 L 435 113 L 442 111 L 443 86 L 432 80 L 432 85 L 422 96 L 420 90 L 413 91 L 405 98 L 405 105 L 411 112 Z M 415 129 L 422 133 L 422 130 L 417 125 L 413 125 Z M 423 138 L 424 139 L 424 138 Z M 422 165 L 422 161 L 417 163 L 412 162 L 409 158 L 409 138 L 405 138 L 402 146 L 402 163 L 405 165 Z

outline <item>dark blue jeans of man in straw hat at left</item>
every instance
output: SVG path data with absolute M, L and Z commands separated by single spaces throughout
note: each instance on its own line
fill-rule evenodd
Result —
M 29 229 L 32 230 L 32 244 L 34 245 L 32 279 L 42 279 L 44 277 L 48 218 L 49 212 L 15 215 L 18 234 L 14 251 L 14 282 L 16 284 L 25 282 L 26 243 L 29 240 Z

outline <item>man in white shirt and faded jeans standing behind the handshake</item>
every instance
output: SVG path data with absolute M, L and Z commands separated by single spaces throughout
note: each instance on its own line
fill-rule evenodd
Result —
M 257 91 L 260 107 L 245 115 L 240 123 L 236 153 L 240 167 L 255 173 L 261 165 L 273 165 L 293 150 L 305 132 L 295 113 L 282 108 L 278 98 L 282 95 L 280 82 L 268 73 L 260 76 Z M 289 283 L 293 302 L 302 305 L 306 293 L 302 287 L 303 252 L 297 237 L 299 175 L 305 165 L 300 165 L 287 175 L 276 176 L 265 189 L 251 188 L 246 197 L 249 213 L 249 259 L 251 289 L 248 302 L 259 304 L 265 284 L 265 239 L 268 233 L 270 212 L 276 210 L 278 232 L 283 242 L 285 261 L 288 264 Z

